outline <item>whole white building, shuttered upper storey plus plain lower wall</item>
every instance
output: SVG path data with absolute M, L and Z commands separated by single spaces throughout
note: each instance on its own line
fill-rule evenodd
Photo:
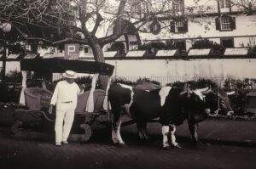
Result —
M 256 44 L 255 14 L 246 13 L 247 9 L 229 0 L 201 0 L 197 4 L 176 0 L 172 4 L 177 8 L 177 17 L 150 20 L 138 36 L 128 35 L 128 42 L 123 36 L 114 42 L 122 43 L 125 51 L 121 56 L 106 58 L 116 66 L 116 76 L 131 80 L 148 77 L 163 84 L 198 77 L 215 78 L 218 82 L 226 78 L 256 78 L 256 55 L 250 53 Z M 189 11 L 191 8 L 194 11 Z M 252 9 L 255 11 L 256 7 Z M 211 54 L 212 48 L 193 51 L 195 42 L 201 40 L 218 45 L 222 54 Z M 139 48 L 139 41 L 142 45 L 160 43 L 164 48 L 158 47 L 150 55 Z M 160 55 L 163 50 L 166 54 Z

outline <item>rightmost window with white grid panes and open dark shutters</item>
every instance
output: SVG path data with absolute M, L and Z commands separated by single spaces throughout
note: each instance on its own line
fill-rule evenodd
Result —
M 236 18 L 229 15 L 224 15 L 216 18 L 216 30 L 232 31 L 236 29 Z

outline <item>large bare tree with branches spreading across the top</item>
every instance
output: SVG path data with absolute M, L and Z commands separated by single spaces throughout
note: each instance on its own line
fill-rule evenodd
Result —
M 177 0 L 2 0 L 0 24 L 9 23 L 12 30 L 0 31 L 0 42 L 59 48 L 66 42 L 78 42 L 89 45 L 94 59 L 104 62 L 102 47 L 105 44 L 131 31 L 147 31 L 148 21 L 204 14 L 209 8 L 201 6 L 199 1 L 194 0 L 193 8 L 183 7 L 186 12 L 176 12 L 176 8 L 183 5 Z M 253 0 L 236 1 L 236 5 L 249 7 L 254 3 Z M 113 25 L 112 33 L 105 36 L 104 32 L 104 36 L 99 36 L 106 25 Z

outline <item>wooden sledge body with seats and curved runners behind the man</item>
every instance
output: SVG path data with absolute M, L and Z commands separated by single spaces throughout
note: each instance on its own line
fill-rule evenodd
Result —
M 55 121 L 55 115 L 49 115 L 49 104 L 52 97 L 52 93 L 44 88 L 40 87 L 30 87 L 26 88 L 25 99 L 27 109 L 17 109 L 15 110 L 15 124 L 11 127 L 12 132 L 15 134 L 16 138 L 47 138 L 47 133 L 36 132 L 33 130 L 24 130 L 22 126 L 24 124 L 40 124 L 44 119 L 49 122 Z M 93 113 L 88 113 L 85 111 L 86 103 L 89 97 L 90 91 L 86 91 L 79 95 L 77 108 L 75 110 L 76 115 L 84 116 L 84 123 L 82 124 L 73 124 L 78 126 L 83 133 L 71 133 L 69 140 L 73 142 L 86 142 L 90 139 L 92 130 L 95 128 L 100 128 L 101 120 L 99 116 L 104 114 L 105 111 L 102 109 L 103 100 L 105 97 L 105 91 L 102 89 L 96 89 L 94 92 L 94 105 L 95 110 Z M 107 118 L 105 118 L 107 119 Z

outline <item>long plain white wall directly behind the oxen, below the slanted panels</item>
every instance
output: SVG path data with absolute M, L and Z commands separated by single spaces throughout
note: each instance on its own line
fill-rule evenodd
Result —
M 161 82 L 165 84 L 173 79 L 186 81 L 195 77 L 256 78 L 256 59 L 134 59 L 106 62 L 115 65 L 113 76 L 159 78 L 164 79 Z

